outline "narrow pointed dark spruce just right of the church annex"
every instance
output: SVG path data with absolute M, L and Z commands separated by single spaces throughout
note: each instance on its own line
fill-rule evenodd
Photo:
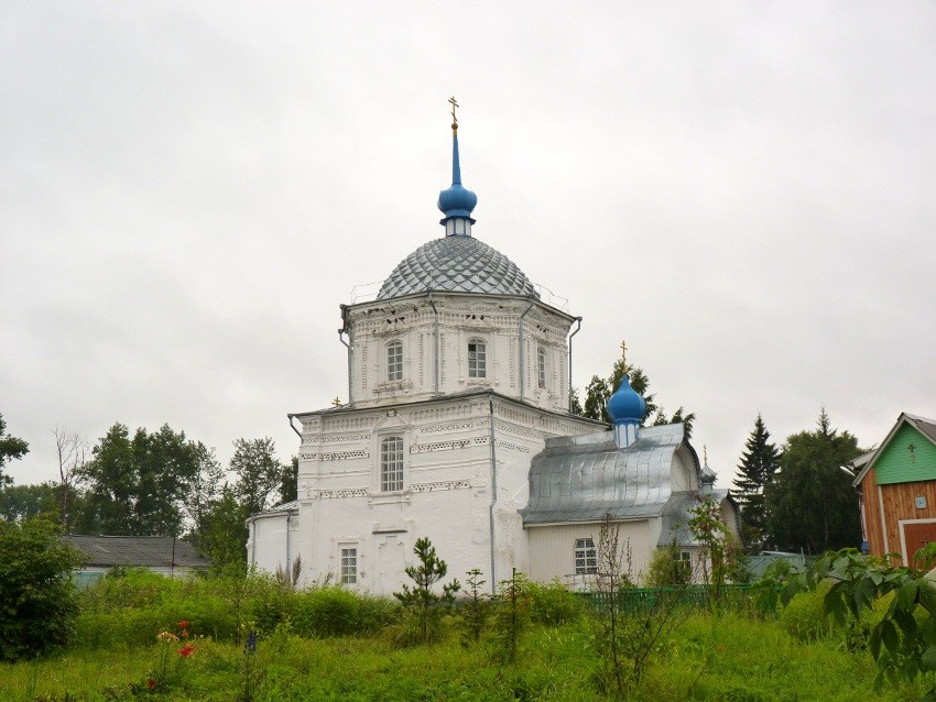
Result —
M 766 534 L 764 489 L 780 470 L 780 450 L 771 442 L 760 413 L 744 448 L 734 479 L 736 495 L 744 520 L 744 542 L 751 550 L 760 550 Z

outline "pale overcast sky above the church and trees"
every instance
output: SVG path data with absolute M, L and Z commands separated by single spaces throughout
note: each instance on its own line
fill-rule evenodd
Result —
M 338 305 L 474 233 L 625 339 L 730 483 L 757 414 L 936 415 L 936 3 L 0 0 L 0 413 L 297 449 Z

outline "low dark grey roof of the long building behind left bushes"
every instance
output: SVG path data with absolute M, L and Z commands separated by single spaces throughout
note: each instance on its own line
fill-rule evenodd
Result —
M 141 568 L 207 568 L 210 562 L 186 541 L 171 536 L 63 536 L 63 541 L 84 552 L 86 566 Z

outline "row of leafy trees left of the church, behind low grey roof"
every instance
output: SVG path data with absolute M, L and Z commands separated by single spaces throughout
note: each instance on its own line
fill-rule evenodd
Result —
M 215 567 L 242 566 L 247 518 L 296 498 L 298 460 L 276 457 L 273 440 L 238 439 L 225 471 L 215 450 L 164 425 L 131 434 L 115 424 L 90 448 L 54 431 L 58 481 L 13 485 L 3 472 L 29 445 L 6 434 L 0 415 L 0 517 L 50 515 L 69 534 L 172 536 L 193 544 Z

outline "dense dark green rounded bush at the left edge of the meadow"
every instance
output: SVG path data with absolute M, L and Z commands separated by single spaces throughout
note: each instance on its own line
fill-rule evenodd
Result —
M 72 640 L 78 613 L 72 571 L 80 563 L 51 519 L 0 520 L 0 660 L 31 658 Z

